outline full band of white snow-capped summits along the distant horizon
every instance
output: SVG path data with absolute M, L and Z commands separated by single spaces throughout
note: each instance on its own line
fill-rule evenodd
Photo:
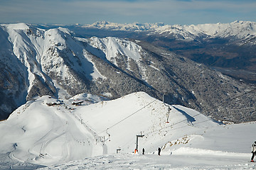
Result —
M 164 25 L 164 23 L 110 23 L 98 21 L 86 24 L 82 28 L 99 28 L 105 30 L 146 31 L 149 35 L 173 36 L 177 40 L 198 40 L 201 38 L 237 38 L 244 43 L 246 40 L 256 45 L 256 23 L 250 21 L 235 21 L 233 23 L 207 23 L 199 25 Z

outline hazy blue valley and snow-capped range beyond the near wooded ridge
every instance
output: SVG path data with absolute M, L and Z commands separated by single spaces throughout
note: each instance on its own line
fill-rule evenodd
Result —
M 79 36 L 134 38 L 165 47 L 235 79 L 256 84 L 256 23 L 235 21 L 190 26 L 106 21 L 68 26 Z

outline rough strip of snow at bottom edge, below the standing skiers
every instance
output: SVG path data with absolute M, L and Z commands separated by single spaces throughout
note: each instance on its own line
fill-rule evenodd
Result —
M 256 163 L 247 162 L 245 157 L 205 154 L 113 154 L 68 162 L 43 169 L 174 169 L 174 170 L 220 170 L 255 169 Z

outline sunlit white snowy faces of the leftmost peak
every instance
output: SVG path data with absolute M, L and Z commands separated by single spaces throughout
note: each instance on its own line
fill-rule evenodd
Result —
M 50 62 L 49 50 L 65 48 L 64 34 L 68 33 L 68 30 L 63 28 L 42 30 L 23 23 L 14 26 L 6 25 L 5 28 L 9 33 L 9 40 L 14 46 L 14 55 L 27 68 L 28 74 L 25 76 L 29 80 L 28 91 L 30 91 L 36 80 L 36 75 L 47 81 L 46 68 L 41 66 L 46 64 L 45 62 Z

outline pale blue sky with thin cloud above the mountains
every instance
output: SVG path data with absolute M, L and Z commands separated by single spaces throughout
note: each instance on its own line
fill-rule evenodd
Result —
M 0 23 L 256 21 L 256 0 L 0 0 Z

